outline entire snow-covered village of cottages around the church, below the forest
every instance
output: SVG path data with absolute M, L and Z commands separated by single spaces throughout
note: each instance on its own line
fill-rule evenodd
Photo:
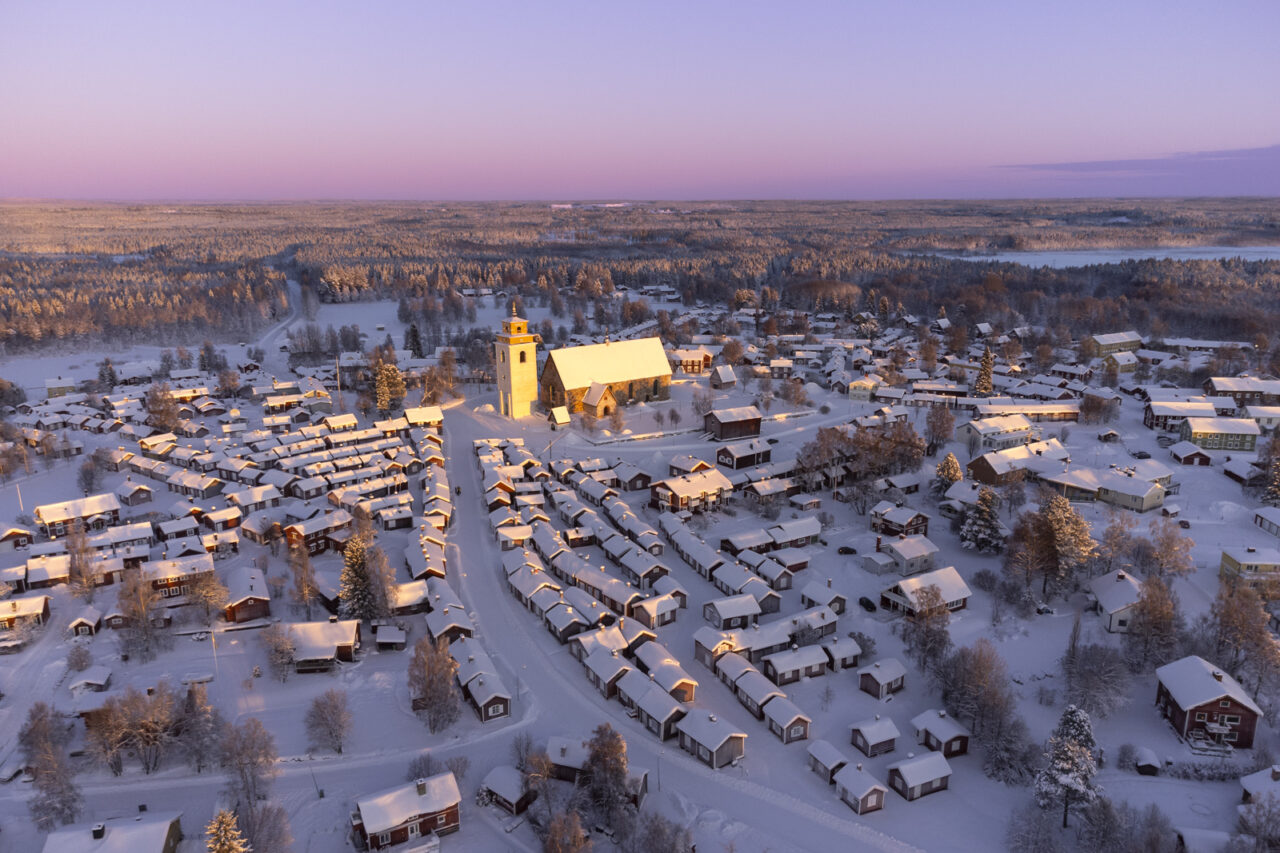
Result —
M 1276 841 L 1263 353 L 672 296 L 8 359 L 8 849 Z

